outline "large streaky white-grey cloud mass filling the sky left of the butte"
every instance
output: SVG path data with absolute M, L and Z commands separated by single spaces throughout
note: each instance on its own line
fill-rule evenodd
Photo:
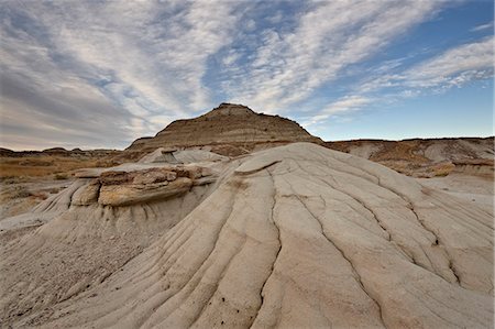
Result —
M 32 91 L 15 99 L 15 109 L 40 114 L 46 124 L 57 121 L 55 116 L 67 118 L 65 124 L 70 127 L 81 113 L 100 118 L 100 111 L 111 112 L 108 125 L 113 127 L 112 121 L 122 125 L 112 128 L 120 141 L 108 141 L 109 132 L 101 124 L 97 134 L 102 142 L 107 140 L 107 145 L 122 147 L 132 139 L 163 129 L 165 117 L 190 117 L 212 106 L 201 79 L 208 57 L 231 42 L 239 19 L 234 10 L 240 3 L 23 4 L 2 4 L 0 25 L 6 33 L 1 35 L 0 68 L 4 102 L 13 107 L 11 89 L 3 88 L 3 81 L 11 78 L 21 89 Z M 34 105 L 48 98 L 53 101 Z M 85 108 L 81 98 L 91 98 L 101 108 Z M 21 127 L 24 118 L 10 116 L 8 120 L 2 120 L 2 134 L 7 125 Z M 61 132 L 64 128 L 58 127 Z M 89 142 L 96 145 L 88 133 Z

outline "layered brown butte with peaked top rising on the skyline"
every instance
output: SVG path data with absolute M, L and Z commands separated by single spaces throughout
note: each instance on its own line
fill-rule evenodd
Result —
M 138 158 L 158 147 L 172 146 L 215 145 L 221 150 L 219 146 L 230 145 L 251 151 L 256 144 L 290 142 L 322 143 L 295 121 L 278 116 L 255 113 L 241 105 L 221 103 L 201 117 L 172 122 L 154 138 L 134 141 L 125 150 L 124 155 Z

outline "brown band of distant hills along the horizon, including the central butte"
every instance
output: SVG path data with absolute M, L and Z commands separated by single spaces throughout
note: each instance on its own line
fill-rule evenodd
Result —
M 493 172 L 494 138 L 410 139 L 403 141 L 351 140 L 323 142 L 296 121 L 256 113 L 242 105 L 221 103 L 193 119 L 176 120 L 155 136 L 135 140 L 124 151 L 72 151 L 53 147 L 44 151 L 14 152 L 0 147 L 0 156 L 51 155 L 108 158 L 116 163 L 138 161 L 157 149 L 202 149 L 221 155 L 238 156 L 295 142 L 311 142 L 351 153 L 409 176 L 431 177 L 450 173 L 455 164 L 472 172 Z M 486 162 L 488 160 L 492 162 Z M 470 161 L 469 164 L 461 164 Z M 474 162 L 473 162 L 474 161 Z

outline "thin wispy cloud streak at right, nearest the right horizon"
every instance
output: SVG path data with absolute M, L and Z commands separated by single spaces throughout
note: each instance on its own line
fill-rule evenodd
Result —
M 373 103 L 394 102 L 424 92 L 441 92 L 473 80 L 494 76 L 494 37 L 463 44 L 425 59 L 411 67 L 391 61 L 375 68 L 351 94 L 317 111 L 307 125 L 327 120 L 332 114 L 351 112 Z

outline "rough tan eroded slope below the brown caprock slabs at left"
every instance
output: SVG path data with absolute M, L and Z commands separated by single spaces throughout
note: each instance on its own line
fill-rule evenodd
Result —
M 40 317 L 40 312 L 101 287 L 189 213 L 207 189 L 195 187 L 195 193 L 160 202 L 118 208 L 94 204 L 68 209 L 66 202 L 74 198 L 75 190 L 87 184 L 88 179 L 77 179 L 56 198 L 43 201 L 41 209 L 25 213 L 30 221 L 12 218 L 24 224 L 9 228 L 16 239 L 6 240 L 9 220 L 0 221 L 0 238 L 9 241 L 0 243 L 1 328 L 33 328 L 50 322 L 52 319 Z M 88 296 L 92 299 L 99 295 L 91 292 Z M 56 310 L 54 317 L 63 314 Z

